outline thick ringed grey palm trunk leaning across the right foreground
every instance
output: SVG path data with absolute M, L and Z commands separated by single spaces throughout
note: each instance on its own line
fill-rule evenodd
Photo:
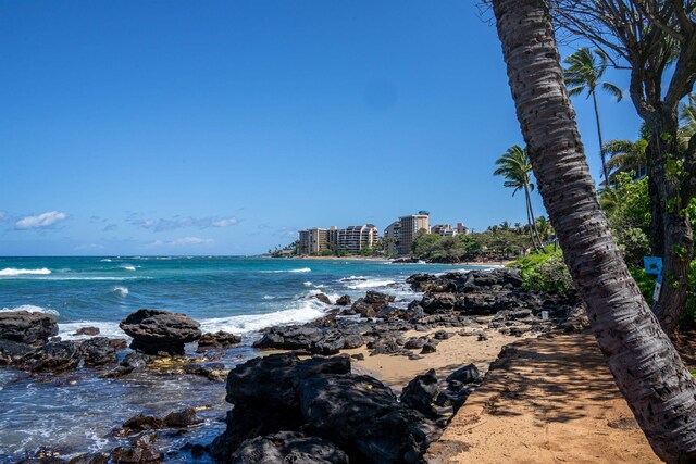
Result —
M 696 460 L 696 383 L 641 296 L 599 208 L 545 0 L 494 0 L 512 97 L 546 210 L 617 386 L 652 449 Z

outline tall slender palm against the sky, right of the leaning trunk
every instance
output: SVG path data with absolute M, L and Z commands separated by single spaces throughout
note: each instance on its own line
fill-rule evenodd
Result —
M 595 105 L 601 170 L 606 180 L 609 178 L 609 168 L 604 151 L 604 142 L 601 140 L 601 125 L 599 124 L 599 109 L 597 106 L 597 86 L 601 86 L 604 90 L 614 96 L 617 101 L 621 101 L 623 92 L 611 83 L 600 83 L 605 71 L 607 71 L 607 54 L 604 51 L 592 51 L 587 47 L 583 47 L 568 57 L 564 62 L 568 64 L 563 73 L 566 84 L 569 86 L 568 95 L 573 97 L 587 91 L 587 98 L 592 97 L 592 102 Z

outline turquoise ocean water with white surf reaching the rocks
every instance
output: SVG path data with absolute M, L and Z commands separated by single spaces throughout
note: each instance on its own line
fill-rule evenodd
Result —
M 0 258 L 0 311 L 54 314 L 59 336 L 79 327 L 99 327 L 101 336 L 126 338 L 119 322 L 140 308 L 186 313 L 203 331 L 243 336 L 243 346 L 219 362 L 227 367 L 259 355 L 251 343 L 264 327 L 321 317 L 332 300 L 366 290 L 397 297 L 414 294 L 405 279 L 415 273 L 468 269 L 467 266 L 390 264 L 378 260 L 275 260 L 217 256 Z M 44 447 L 61 455 L 109 450 L 127 440 L 109 431 L 140 412 L 206 406 L 204 425 L 187 434 L 161 434 L 167 462 L 186 462 L 176 450 L 186 442 L 209 443 L 224 429 L 229 405 L 224 384 L 196 376 L 142 374 L 99 379 L 101 372 L 80 368 L 57 376 L 29 377 L 0 368 L 0 462 L 14 462 Z M 206 459 L 198 462 L 206 462 Z

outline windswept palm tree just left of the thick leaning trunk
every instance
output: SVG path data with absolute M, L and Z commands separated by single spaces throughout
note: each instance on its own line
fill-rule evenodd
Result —
M 513 197 L 519 190 L 524 191 L 526 222 L 530 224 L 530 239 L 532 240 L 532 246 L 537 251 L 543 249 L 538 234 L 534 227 L 535 220 L 531 198 L 534 184 L 532 184 L 532 165 L 530 164 L 530 155 L 526 152 L 526 147 L 522 148 L 519 145 L 513 145 L 502 156 L 496 160 L 496 165 L 498 167 L 493 172 L 493 175 L 505 178 L 502 186 L 512 188 Z

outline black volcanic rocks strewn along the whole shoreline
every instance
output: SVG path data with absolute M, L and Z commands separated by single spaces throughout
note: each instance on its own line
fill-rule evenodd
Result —
M 229 463 L 287 459 L 411 463 L 422 461 L 428 444 L 478 385 L 476 366 L 462 360 L 460 369 L 446 379 L 428 371 L 415 376 L 397 397 L 377 378 L 355 373 L 351 361 L 365 354 L 426 360 L 451 337 L 476 343 L 492 333 L 521 337 L 584 325 L 576 299 L 526 291 L 517 269 L 417 274 L 407 283 L 423 292 L 408 305 L 397 305 L 394 297 L 375 291 L 355 302 L 348 297 L 332 302 L 315 296 L 331 308 L 326 316 L 263 330 L 254 347 L 285 352 L 252 359 L 229 373 L 216 359 L 237 346 L 239 337 L 203 335 L 186 315 L 157 310 L 139 310 L 122 322 L 133 337 L 134 351 L 125 358 L 117 355 L 126 348 L 125 340 L 61 341 L 54 338 L 58 327 L 49 314 L 0 313 L 0 365 L 37 376 L 99 366 L 95 372 L 104 378 L 145 369 L 212 381 L 226 378 L 226 400 L 234 405 L 225 419 L 226 430 L 212 443 L 190 443 L 179 450 L 191 456 L 209 453 L 216 462 Z M 198 352 L 187 354 L 184 344 L 191 342 L 198 343 Z M 352 360 L 340 354 L 359 348 L 366 352 L 352 354 Z M 185 432 L 199 426 L 191 409 L 165 417 L 136 416 L 113 431 L 130 441 L 111 453 L 72 460 L 35 455 L 25 462 L 161 462 L 164 454 L 158 448 L 157 430 Z

